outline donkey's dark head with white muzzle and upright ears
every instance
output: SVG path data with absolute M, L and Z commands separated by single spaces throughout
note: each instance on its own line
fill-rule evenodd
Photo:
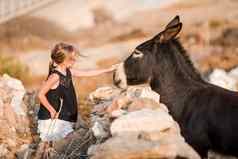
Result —
M 181 28 L 182 23 L 180 23 L 179 17 L 176 16 L 162 32 L 137 46 L 116 70 L 114 84 L 118 87 L 126 88 L 127 85 L 148 82 L 153 77 L 156 64 L 163 60 L 162 57 L 166 51 L 163 45 L 173 40 Z

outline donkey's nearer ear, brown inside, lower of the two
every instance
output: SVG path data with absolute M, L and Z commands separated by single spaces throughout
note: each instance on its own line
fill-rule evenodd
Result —
M 174 37 L 176 37 L 176 35 L 178 35 L 181 29 L 182 23 L 178 23 L 177 25 L 168 27 L 164 31 L 162 31 L 159 36 L 156 37 L 155 42 L 164 43 L 170 39 L 173 39 Z

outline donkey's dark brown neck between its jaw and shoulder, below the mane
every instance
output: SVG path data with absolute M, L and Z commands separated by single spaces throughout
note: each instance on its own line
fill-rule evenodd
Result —
M 157 66 L 154 68 L 151 88 L 161 96 L 175 120 L 179 120 L 188 96 L 201 85 L 188 74 L 184 67 L 185 60 L 179 59 L 176 52 L 170 47 L 162 47 L 164 54 L 158 54 Z

